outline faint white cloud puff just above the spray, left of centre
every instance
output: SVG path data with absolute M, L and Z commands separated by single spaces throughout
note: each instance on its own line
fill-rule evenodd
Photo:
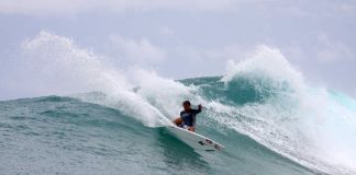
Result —
M 134 40 L 112 35 L 111 40 L 124 59 L 133 63 L 159 63 L 166 58 L 166 52 L 146 38 Z

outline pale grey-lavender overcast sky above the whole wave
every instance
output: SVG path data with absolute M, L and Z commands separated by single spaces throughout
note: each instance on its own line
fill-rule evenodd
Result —
M 2 80 L 46 34 L 173 79 L 224 74 L 264 44 L 307 81 L 356 97 L 355 0 L 0 0 L 0 22 Z M 0 100 L 22 97 L 16 81 L 0 80 Z

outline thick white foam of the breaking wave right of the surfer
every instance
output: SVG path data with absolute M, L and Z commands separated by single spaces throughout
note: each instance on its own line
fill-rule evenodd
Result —
M 349 129 L 356 113 L 331 100 L 325 89 L 308 85 L 278 49 L 259 46 L 249 58 L 231 61 L 222 81 L 238 77 L 287 82 L 290 91 L 243 106 L 211 103 L 211 118 L 311 168 L 356 172 L 356 131 Z

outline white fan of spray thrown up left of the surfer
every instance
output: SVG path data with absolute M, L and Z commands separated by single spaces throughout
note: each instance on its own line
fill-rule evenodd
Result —
M 73 39 L 48 32 L 22 44 L 23 60 L 16 85 L 26 86 L 29 94 L 75 94 L 99 91 L 104 98 L 76 95 L 84 101 L 119 108 L 147 126 L 170 121 L 145 98 L 134 93 L 124 71 L 104 63 L 104 57 L 80 48 Z

